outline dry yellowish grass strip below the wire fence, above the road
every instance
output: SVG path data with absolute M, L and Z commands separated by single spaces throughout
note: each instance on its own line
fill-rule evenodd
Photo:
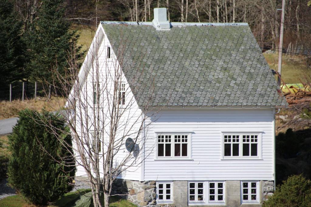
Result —
M 63 98 L 51 97 L 51 99 L 45 97 L 37 97 L 37 100 L 14 100 L 11 103 L 9 101 L 0 102 L 0 119 L 7 119 L 18 116 L 18 112 L 26 108 L 30 110 L 41 111 L 45 109 L 47 111 L 57 111 L 63 109 L 65 105 Z

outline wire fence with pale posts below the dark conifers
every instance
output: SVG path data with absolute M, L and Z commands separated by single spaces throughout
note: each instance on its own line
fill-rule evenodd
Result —
M 0 88 L 0 101 L 26 100 L 33 99 L 37 96 L 49 97 L 49 86 L 42 83 L 16 82 L 7 85 L 7 87 Z

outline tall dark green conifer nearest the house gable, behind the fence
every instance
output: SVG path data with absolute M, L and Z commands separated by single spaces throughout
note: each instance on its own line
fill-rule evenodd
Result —
M 83 54 L 77 46 L 79 34 L 70 28 L 65 19 L 63 0 L 44 0 L 38 11 L 37 19 L 28 33 L 30 64 L 28 71 L 31 79 L 40 82 L 53 82 L 53 71 L 64 74 L 68 68 L 70 52 L 78 51 L 77 59 Z M 56 79 L 54 79 L 56 80 Z

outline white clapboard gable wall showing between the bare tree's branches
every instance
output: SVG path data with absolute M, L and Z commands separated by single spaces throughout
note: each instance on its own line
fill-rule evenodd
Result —
M 100 32 L 104 32 L 104 31 L 101 30 Z M 86 82 L 83 85 L 82 92 L 81 92 L 80 96 L 84 99 L 84 102 L 86 104 L 92 103 L 92 101 L 93 101 L 93 88 L 92 88 L 93 86 L 92 86 L 92 84 L 93 84 L 93 82 L 95 82 L 94 79 L 95 79 L 95 74 L 96 74 L 96 67 L 98 67 L 100 89 L 102 89 L 102 87 L 107 86 L 107 89 L 100 91 L 100 106 L 102 108 L 100 110 L 100 114 L 101 114 L 100 119 L 102 121 L 105 121 L 106 131 L 108 133 L 109 124 L 107 123 L 107 121 L 109 120 L 109 117 L 107 117 L 105 115 L 109 114 L 109 112 L 108 112 L 108 102 L 107 102 L 106 97 L 107 97 L 107 91 L 110 91 L 110 95 L 113 94 L 113 88 L 114 88 L 113 79 L 114 79 L 114 71 L 115 71 L 114 68 L 115 68 L 115 65 L 118 64 L 118 62 L 116 61 L 116 56 L 115 56 L 111 46 L 110 46 L 111 58 L 110 59 L 106 58 L 107 46 L 110 46 L 110 43 L 109 43 L 107 36 L 104 34 L 102 41 L 99 43 L 99 49 L 97 51 L 97 54 L 94 53 L 94 55 L 93 55 L 93 58 L 95 59 L 95 61 L 93 62 L 93 68 L 91 68 L 87 74 Z M 96 66 L 96 65 L 98 65 L 98 66 Z M 125 78 L 123 79 L 123 82 L 126 84 L 126 88 L 129 88 L 129 85 L 128 85 L 127 80 Z M 123 117 L 126 117 L 126 118 L 132 117 L 132 119 L 128 122 L 128 125 L 132 126 L 132 125 L 135 125 L 134 121 L 140 117 L 141 110 L 138 108 L 136 101 L 133 99 L 133 94 L 130 91 L 130 89 L 127 89 L 127 91 L 126 91 L 126 101 L 127 100 L 132 100 L 134 102 L 133 102 L 132 108 L 130 110 L 127 110 L 124 113 Z M 92 104 L 90 104 L 90 106 L 91 105 Z M 77 105 L 77 108 L 79 108 L 78 105 Z M 82 114 L 83 114 L 85 110 L 83 109 L 82 111 L 83 111 L 82 112 Z M 93 117 L 92 107 L 88 107 L 87 111 L 88 111 L 89 116 Z M 83 121 L 85 121 L 85 119 L 83 119 Z M 139 124 L 140 123 L 138 123 L 136 128 L 139 127 Z M 124 127 L 124 130 L 128 130 L 128 128 Z M 81 129 L 79 129 L 79 126 L 77 126 L 77 131 L 81 132 Z M 120 134 L 122 134 L 122 133 L 120 132 Z M 104 137 L 103 138 L 104 140 L 102 143 L 102 146 L 103 146 L 102 150 L 105 151 L 107 149 L 107 145 L 108 145 L 108 135 L 103 134 L 103 137 Z M 121 149 L 118 152 L 118 154 L 115 156 L 114 163 L 117 164 L 117 163 L 122 162 L 123 158 L 126 155 L 128 155 L 128 151 L 126 151 L 125 145 L 124 145 L 124 149 Z M 103 160 L 100 160 L 101 176 L 104 173 L 103 169 L 102 169 L 102 162 L 103 162 Z M 139 180 L 141 178 L 141 173 L 140 173 L 141 159 L 138 158 L 137 160 L 135 160 L 133 162 L 135 162 L 133 164 L 133 166 L 129 167 L 126 171 L 122 172 L 118 178 L 129 179 L 129 180 Z M 130 161 L 127 164 L 132 164 L 132 161 Z M 77 165 L 76 176 L 86 176 L 86 173 L 85 173 L 82 166 Z

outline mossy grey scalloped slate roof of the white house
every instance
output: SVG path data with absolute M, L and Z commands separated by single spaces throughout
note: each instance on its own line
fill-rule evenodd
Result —
M 247 24 L 201 24 L 102 22 L 139 106 L 287 106 Z

